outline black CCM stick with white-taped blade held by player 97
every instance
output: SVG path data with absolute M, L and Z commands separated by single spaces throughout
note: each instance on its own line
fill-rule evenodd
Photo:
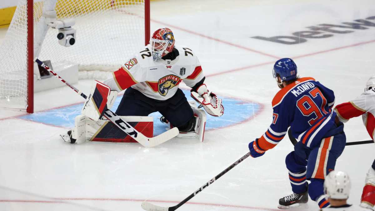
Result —
M 182 200 L 180 203 L 178 203 L 175 206 L 170 206 L 170 207 L 163 207 L 163 206 L 156 206 L 148 202 L 142 202 L 142 208 L 147 211 L 174 211 L 177 208 L 179 208 L 181 205 L 186 203 L 188 200 L 190 200 L 192 197 L 194 197 L 196 194 L 201 192 L 204 188 L 207 188 L 209 185 L 211 185 L 214 181 L 219 179 L 221 176 L 223 176 L 226 172 L 229 170 L 233 169 L 233 167 L 237 166 L 239 163 L 241 163 L 243 160 L 246 158 L 250 157 L 250 152 L 246 153 L 242 158 L 234 162 L 232 165 L 230 165 L 228 168 L 223 170 L 221 173 L 216 175 L 214 178 L 212 178 L 210 181 L 206 182 L 202 187 L 200 187 L 198 190 L 196 190 L 194 193 L 190 194 L 190 196 L 186 197 L 186 199 Z

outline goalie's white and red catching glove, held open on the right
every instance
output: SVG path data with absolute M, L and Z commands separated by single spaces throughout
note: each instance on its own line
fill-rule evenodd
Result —
M 214 93 L 208 91 L 206 84 L 199 86 L 196 91 L 191 90 L 191 96 L 201 104 L 206 112 L 212 116 L 222 116 L 224 107 L 222 101 Z

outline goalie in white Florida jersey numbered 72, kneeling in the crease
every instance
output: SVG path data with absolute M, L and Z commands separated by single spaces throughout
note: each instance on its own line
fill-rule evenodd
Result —
M 197 123 L 199 116 L 205 114 L 190 107 L 184 93 L 178 88 L 182 80 L 192 88 L 192 97 L 207 113 L 222 116 L 222 101 L 208 91 L 204 84 L 205 77 L 198 57 L 190 48 L 174 44 L 175 39 L 170 29 L 158 29 L 153 33 L 150 44 L 127 59 L 120 69 L 113 72 L 113 77 L 103 83 L 95 81 L 82 110 L 81 121 L 76 118 L 76 127 L 70 132 L 70 142 L 81 143 L 87 140 L 85 132 L 81 132 L 79 127 L 87 125 L 87 118 L 83 117 L 98 121 L 105 109 L 113 104 L 114 96 L 125 89 L 115 112 L 118 116 L 148 116 L 159 112 L 180 133 L 202 134 L 204 122 Z M 113 131 L 111 134 L 114 134 Z

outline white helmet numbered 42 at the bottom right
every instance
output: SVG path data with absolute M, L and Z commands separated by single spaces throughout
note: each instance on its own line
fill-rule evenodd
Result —
M 324 193 L 331 199 L 347 199 L 350 188 L 350 178 L 345 172 L 332 171 L 324 180 Z

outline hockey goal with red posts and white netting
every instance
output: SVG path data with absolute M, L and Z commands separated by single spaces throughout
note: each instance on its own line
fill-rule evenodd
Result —
M 46 24 L 53 10 L 75 21 L 71 47 Z M 0 46 L 0 107 L 33 113 L 34 57 L 78 63 L 80 73 L 115 71 L 149 39 L 150 0 L 20 0 Z

